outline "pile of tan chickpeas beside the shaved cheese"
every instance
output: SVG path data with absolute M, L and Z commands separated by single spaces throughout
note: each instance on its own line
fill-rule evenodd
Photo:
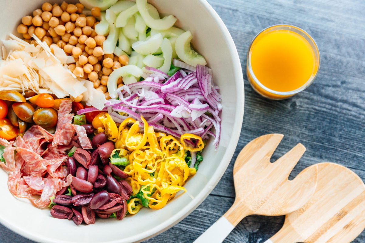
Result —
M 17 31 L 30 44 L 37 45 L 32 40 L 32 35 L 35 34 L 51 50 L 53 45 L 57 45 L 67 55 L 72 55 L 76 63 L 69 64 L 69 70 L 76 77 L 93 82 L 94 88 L 104 93 L 106 99 L 110 99 L 107 92 L 108 77 L 113 70 L 128 64 L 128 56 L 104 54 L 105 36 L 97 35 L 94 31 L 99 23 L 96 17 L 100 16 L 100 8 L 92 8 L 92 16 L 86 16 L 82 13 L 83 10 L 84 5 L 81 3 L 43 3 L 42 9 L 33 11 L 33 16 L 22 18 Z M 119 78 L 118 87 L 122 85 L 122 78 Z M 83 97 L 79 95 L 72 98 L 80 102 Z

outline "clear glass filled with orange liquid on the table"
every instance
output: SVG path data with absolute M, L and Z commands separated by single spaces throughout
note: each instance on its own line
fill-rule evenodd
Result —
M 253 89 L 270 99 L 303 91 L 317 76 L 320 55 L 314 39 L 291 25 L 275 25 L 255 36 L 247 52 L 247 77 Z

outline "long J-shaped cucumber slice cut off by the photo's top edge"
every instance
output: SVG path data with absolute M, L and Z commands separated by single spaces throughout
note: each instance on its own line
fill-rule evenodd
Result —
M 168 30 L 177 20 L 173 15 L 166 16 L 163 19 L 154 19 L 148 11 L 147 0 L 136 0 L 136 5 L 146 25 L 151 29 Z

